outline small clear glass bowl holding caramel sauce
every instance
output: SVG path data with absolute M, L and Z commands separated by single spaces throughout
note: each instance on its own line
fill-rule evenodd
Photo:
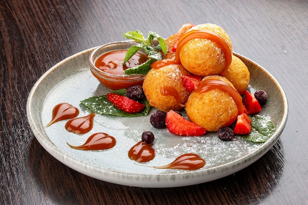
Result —
M 132 45 L 136 45 L 134 42 L 114 42 L 97 47 L 90 54 L 90 70 L 92 75 L 98 79 L 98 81 L 109 90 L 119 90 L 128 88 L 132 85 L 142 85 L 145 76 L 143 75 L 116 75 L 106 73 L 95 66 L 95 61 L 102 54 L 109 51 L 116 50 L 128 50 Z M 138 51 L 147 54 L 145 51 Z

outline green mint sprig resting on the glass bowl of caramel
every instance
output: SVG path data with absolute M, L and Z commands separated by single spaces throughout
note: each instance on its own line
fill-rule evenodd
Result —
M 149 57 L 149 60 L 147 60 L 145 63 L 133 68 L 126 69 L 125 75 L 146 75 L 151 70 L 151 64 L 154 61 L 161 60 L 163 58 L 160 51 L 162 51 L 163 54 L 167 53 L 167 46 L 165 40 L 153 31 L 150 31 L 148 33 L 147 39 L 139 30 L 128 31 L 126 33 L 123 33 L 123 36 L 127 39 L 132 39 L 140 43 L 137 45 L 133 45 L 128 49 L 123 60 L 123 65 L 140 49 L 146 51 Z M 156 46 L 153 44 L 153 40 L 155 38 L 158 40 L 158 45 Z

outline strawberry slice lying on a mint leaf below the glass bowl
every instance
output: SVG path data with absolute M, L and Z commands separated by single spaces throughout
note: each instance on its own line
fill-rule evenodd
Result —
M 114 104 L 117 108 L 128 113 L 140 112 L 145 108 L 146 105 L 138 103 L 137 101 L 131 100 L 126 96 L 118 95 L 115 93 L 108 93 L 107 99 Z

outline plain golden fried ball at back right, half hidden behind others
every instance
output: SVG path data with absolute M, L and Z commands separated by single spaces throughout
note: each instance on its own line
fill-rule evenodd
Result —
M 227 78 L 241 95 L 247 89 L 250 80 L 247 66 L 235 55 L 232 55 L 231 64 L 226 72 L 221 73 L 220 76 Z

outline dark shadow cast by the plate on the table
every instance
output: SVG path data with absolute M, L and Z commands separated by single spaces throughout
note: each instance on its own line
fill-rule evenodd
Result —
M 42 200 L 47 198 L 57 204 L 191 204 L 191 196 L 204 196 L 195 198 L 195 203 L 211 204 L 218 200 L 222 203 L 247 204 L 266 199 L 271 190 L 275 189 L 283 172 L 284 151 L 281 141 L 278 140 L 268 153 L 233 175 L 202 184 L 174 188 L 129 187 L 93 179 L 59 162 L 48 154 L 34 137 L 28 164 L 34 183 L 39 187 L 36 191 L 42 193 Z M 126 202 L 118 201 L 123 198 L 123 193 L 131 196 L 125 199 Z M 216 196 L 220 198 L 217 199 Z M 189 198 L 190 201 L 187 201 Z M 89 199 L 97 201 L 90 202 Z M 230 201 L 231 199 L 237 201 Z

